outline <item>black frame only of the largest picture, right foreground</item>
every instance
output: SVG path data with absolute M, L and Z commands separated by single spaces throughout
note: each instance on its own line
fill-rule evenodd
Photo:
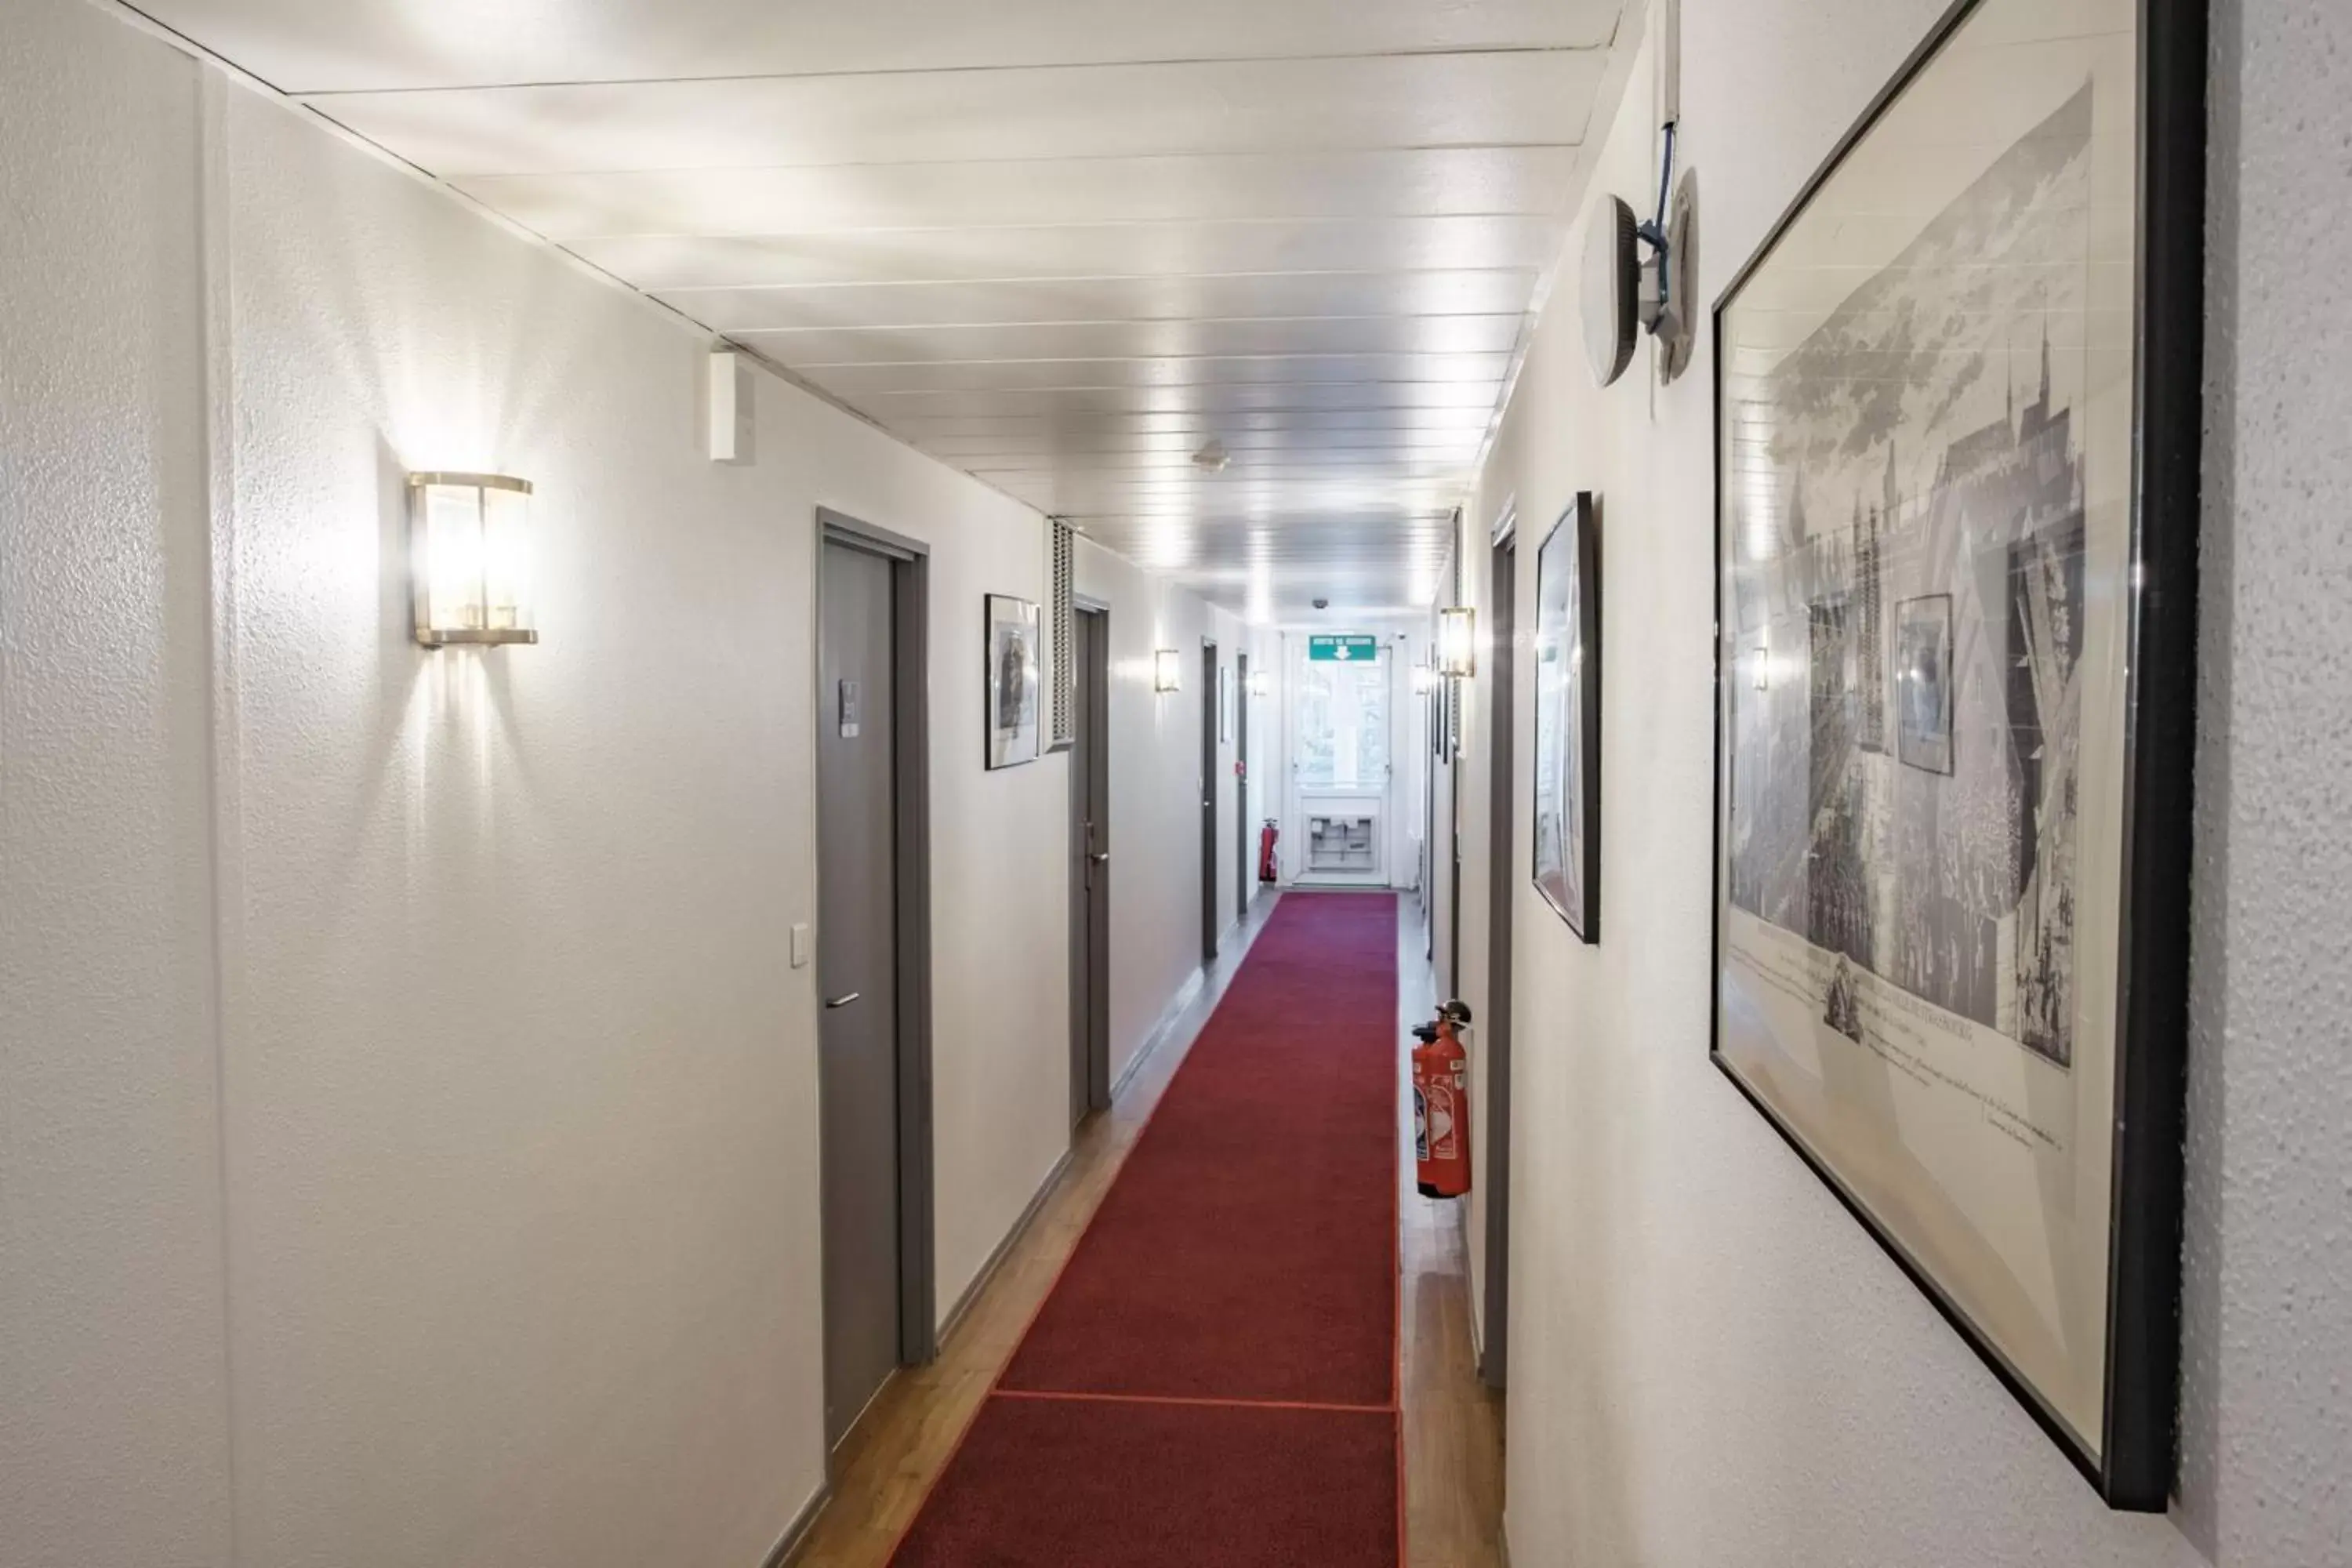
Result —
M 2114 1509 L 2164 1512 L 2176 1469 L 2180 1375 L 2180 1178 L 2187 1067 L 2197 517 L 2204 350 L 2206 2 L 2140 0 L 2133 266 L 2133 517 L 2124 689 L 2124 842 L 2114 896 L 2114 1145 L 2100 1443 L 2091 1453 L 1893 1229 L 1724 1058 L 1726 745 L 1726 336 L 1724 313 L 1823 183 L 1983 0 L 1957 0 L 1771 226 L 1717 296 L 1715 378 L 1715 938 L 1710 1060 L 1919 1286 L 2065 1458 Z

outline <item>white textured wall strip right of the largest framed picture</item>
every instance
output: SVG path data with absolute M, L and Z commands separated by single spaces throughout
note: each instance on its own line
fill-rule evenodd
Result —
M 2216 0 L 2180 1523 L 2352 1563 L 2352 7 Z

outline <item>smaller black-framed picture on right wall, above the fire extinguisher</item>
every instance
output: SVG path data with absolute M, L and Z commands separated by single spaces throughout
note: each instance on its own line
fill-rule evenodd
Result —
M 1536 891 L 1602 940 L 1602 571 L 1592 491 L 1536 550 Z

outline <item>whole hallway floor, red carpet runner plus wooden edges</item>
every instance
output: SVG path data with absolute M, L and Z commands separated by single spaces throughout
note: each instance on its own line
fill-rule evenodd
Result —
M 1458 1215 L 1402 1143 L 1418 929 L 1390 893 L 1261 900 L 793 1561 L 1501 1561 Z

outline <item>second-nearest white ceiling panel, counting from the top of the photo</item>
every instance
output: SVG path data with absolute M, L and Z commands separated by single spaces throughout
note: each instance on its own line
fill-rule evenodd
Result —
M 445 179 L 614 169 L 1564 146 L 1595 52 L 560 82 L 306 99 Z

